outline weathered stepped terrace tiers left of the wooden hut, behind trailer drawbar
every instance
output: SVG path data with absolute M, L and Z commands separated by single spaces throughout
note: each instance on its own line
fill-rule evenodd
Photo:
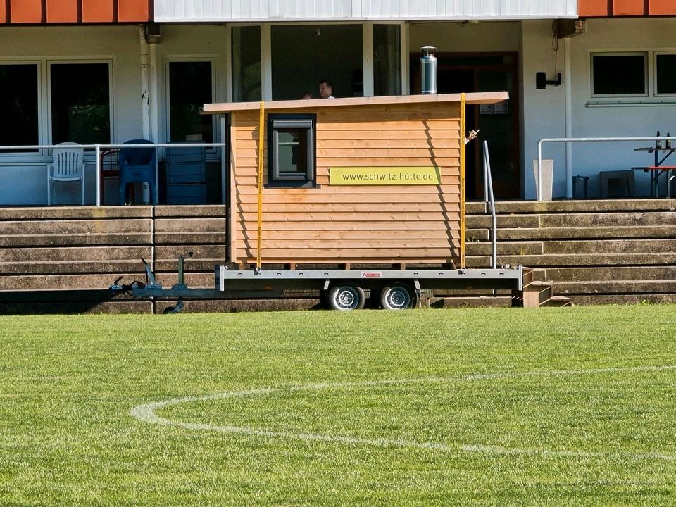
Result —
M 111 297 L 108 287 L 145 281 L 141 258 L 158 281 L 177 281 L 177 258 L 191 287 L 214 287 L 225 261 L 225 206 L 0 208 L 0 313 L 153 311 L 148 301 Z

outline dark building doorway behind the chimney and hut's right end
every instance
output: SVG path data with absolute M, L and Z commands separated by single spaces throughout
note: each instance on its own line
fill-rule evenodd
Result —
M 437 92 L 509 92 L 494 106 L 468 106 L 467 130 L 480 130 L 467 145 L 466 199 L 484 198 L 482 144 L 488 141 L 496 199 L 520 199 L 518 54 L 437 54 Z M 411 92 L 420 93 L 420 55 L 411 55 Z M 467 132 L 465 132 L 466 134 Z

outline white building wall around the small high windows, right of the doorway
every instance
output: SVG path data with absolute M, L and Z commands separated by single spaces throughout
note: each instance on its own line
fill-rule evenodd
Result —
M 546 70 L 553 77 L 551 24 L 524 22 L 524 116 L 525 161 L 537 158 L 537 141 L 542 137 L 564 137 L 563 87 L 535 89 L 535 72 Z M 563 44 L 561 44 L 563 49 Z M 676 134 L 676 97 L 663 98 L 668 104 L 656 104 L 651 97 L 642 104 L 594 107 L 590 92 L 590 54 L 594 51 L 676 50 L 676 19 L 641 18 L 587 20 L 587 32 L 570 40 L 572 57 L 572 136 L 573 137 L 648 137 L 657 130 Z M 559 68 L 563 70 L 563 51 Z M 649 66 L 652 61 L 649 55 Z M 652 72 L 649 77 L 652 77 Z M 617 142 L 574 144 L 572 174 L 588 176 L 589 196 L 599 196 L 599 171 L 628 170 L 632 166 L 652 165 L 653 156 L 636 152 L 634 147 L 651 143 Z M 565 194 L 565 156 L 563 149 L 549 145 L 545 158 L 554 158 L 556 181 L 554 196 Z M 672 158 L 676 163 L 676 156 Z M 526 177 L 530 171 L 526 168 Z M 534 187 L 527 185 L 526 196 L 534 197 Z M 649 194 L 649 175 L 635 172 L 638 195 Z

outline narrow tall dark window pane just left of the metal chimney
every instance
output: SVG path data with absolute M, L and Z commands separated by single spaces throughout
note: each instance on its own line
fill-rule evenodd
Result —
M 373 25 L 373 94 L 401 95 L 399 25 Z

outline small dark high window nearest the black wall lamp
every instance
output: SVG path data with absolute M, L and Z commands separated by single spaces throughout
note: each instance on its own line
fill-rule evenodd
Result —
M 592 96 L 647 96 L 646 53 L 592 54 Z

